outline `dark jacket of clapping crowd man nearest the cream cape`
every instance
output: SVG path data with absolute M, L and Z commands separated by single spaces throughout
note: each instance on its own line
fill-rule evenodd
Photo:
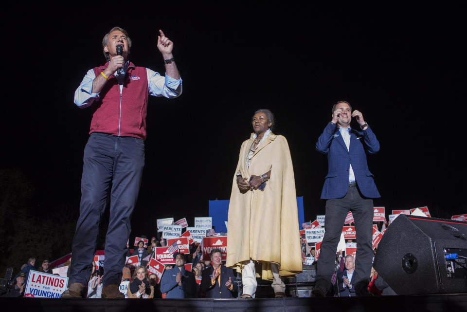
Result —
M 233 289 L 237 290 L 238 286 L 235 281 L 234 271 L 232 268 L 226 268 L 225 266 L 220 266 L 220 277 L 217 278 L 216 283 L 213 285 L 211 278 L 213 277 L 214 267 L 209 267 L 202 272 L 201 285 L 199 287 L 202 293 L 206 293 L 206 298 L 232 298 L 232 292 L 225 286 L 225 283 L 229 280 L 229 277 L 233 283 Z M 219 286 L 220 280 L 220 286 Z

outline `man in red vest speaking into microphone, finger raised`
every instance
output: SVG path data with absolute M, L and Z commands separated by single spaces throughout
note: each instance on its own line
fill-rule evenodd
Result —
M 109 196 L 102 297 L 125 298 L 119 285 L 131 232 L 130 218 L 144 168 L 147 95 L 174 98 L 182 90 L 172 54 L 173 42 L 162 30 L 157 47 L 164 59 L 165 76 L 128 60 L 131 39 L 123 28 L 113 27 L 104 36 L 102 46 L 107 63 L 89 70 L 74 94 L 78 107 L 91 107 L 92 119 L 84 150 L 69 289 L 62 297 L 83 296 Z

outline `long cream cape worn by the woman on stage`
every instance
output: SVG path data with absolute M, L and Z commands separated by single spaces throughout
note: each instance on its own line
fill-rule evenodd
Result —
M 259 262 L 256 272 L 263 279 L 272 280 L 271 263 L 279 265 L 279 275 L 290 276 L 302 272 L 297 197 L 292 160 L 287 140 L 270 134 L 254 152 L 247 167 L 247 155 L 253 143 L 243 142 L 232 182 L 227 231 L 227 267 L 238 272 L 250 259 Z M 264 191 L 244 194 L 236 182 L 238 171 L 249 181 L 271 170 Z

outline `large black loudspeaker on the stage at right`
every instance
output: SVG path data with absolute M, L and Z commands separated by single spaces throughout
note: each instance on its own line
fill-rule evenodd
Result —
M 399 215 L 373 267 L 396 294 L 467 293 L 467 222 Z

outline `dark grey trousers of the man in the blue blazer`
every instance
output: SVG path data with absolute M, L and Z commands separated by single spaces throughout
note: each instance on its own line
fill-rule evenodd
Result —
M 326 231 L 321 243 L 316 276 L 316 286 L 324 292 L 331 285 L 337 245 L 349 211 L 352 211 L 357 231 L 355 282 L 356 284 L 368 282 L 370 278 L 373 257 L 373 200 L 363 197 L 358 186 L 349 186 L 344 197 L 326 200 L 326 217 L 324 218 Z

